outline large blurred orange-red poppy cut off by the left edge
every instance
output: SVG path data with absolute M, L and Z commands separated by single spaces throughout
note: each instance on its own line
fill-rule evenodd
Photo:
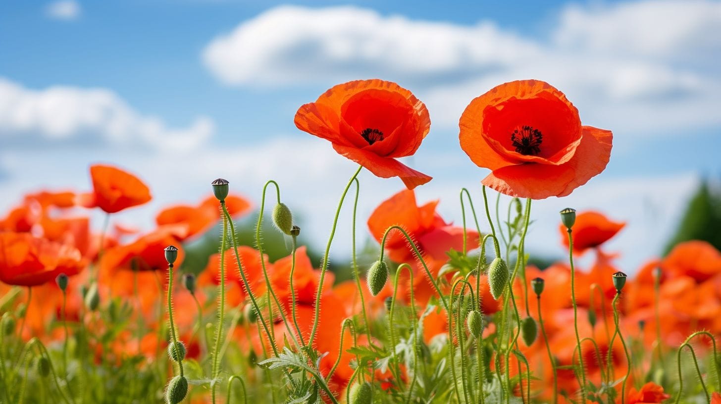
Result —
M 79 273 L 85 263 L 71 245 L 32 237 L 28 233 L 0 233 L 0 281 L 9 285 L 37 286 L 65 273 Z

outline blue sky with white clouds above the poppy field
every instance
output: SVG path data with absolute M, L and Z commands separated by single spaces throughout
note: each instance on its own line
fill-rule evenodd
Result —
M 614 131 L 614 151 L 572 196 L 536 204 L 531 247 L 560 255 L 556 212 L 598 208 L 629 221 L 610 247 L 633 271 L 658 253 L 699 176 L 719 173 L 720 58 L 718 1 L 5 2 L 0 208 L 38 186 L 87 188 L 91 162 L 154 189 L 127 221 L 196 201 L 218 176 L 257 202 L 273 177 L 320 244 L 353 164 L 293 114 L 333 84 L 380 77 L 428 105 L 431 132 L 409 164 L 435 177 L 420 200 L 441 198 L 458 220 L 459 188 L 478 195 L 486 174 L 459 148 L 458 116 L 496 84 L 536 78 L 566 92 L 585 124 Z M 366 216 L 402 186 L 362 180 Z

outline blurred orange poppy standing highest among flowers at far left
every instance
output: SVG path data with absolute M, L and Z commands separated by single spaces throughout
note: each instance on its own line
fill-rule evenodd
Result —
M 119 168 L 96 164 L 90 167 L 90 176 L 93 192 L 81 198 L 87 208 L 98 207 L 112 214 L 151 200 L 147 185 Z

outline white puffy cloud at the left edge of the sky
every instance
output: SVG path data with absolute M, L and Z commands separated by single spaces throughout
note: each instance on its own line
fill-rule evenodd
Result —
M 108 89 L 53 86 L 28 89 L 0 77 L 0 139 L 61 141 L 190 149 L 208 139 L 213 121 L 200 116 L 186 128 L 133 110 Z

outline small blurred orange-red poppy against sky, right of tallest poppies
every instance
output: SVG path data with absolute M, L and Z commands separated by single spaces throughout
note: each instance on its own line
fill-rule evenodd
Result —
M 596 211 L 585 211 L 576 215 L 573 225 L 573 253 L 582 254 L 589 248 L 595 248 L 614 237 L 626 226 L 623 221 L 612 221 Z M 564 225 L 559 226 L 561 241 L 568 247 L 568 233 Z

